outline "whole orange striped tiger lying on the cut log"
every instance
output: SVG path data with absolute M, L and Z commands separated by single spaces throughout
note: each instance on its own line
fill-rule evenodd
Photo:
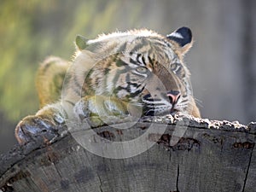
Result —
M 146 29 L 93 40 L 77 36 L 75 44 L 72 62 L 49 57 L 40 65 L 36 82 L 41 109 L 16 126 L 20 144 L 38 137 L 49 141 L 71 119 L 201 116 L 183 63 L 193 44 L 188 27 L 167 36 Z

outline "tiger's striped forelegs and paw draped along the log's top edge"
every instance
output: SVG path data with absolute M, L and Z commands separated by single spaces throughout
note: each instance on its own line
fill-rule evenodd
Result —
M 59 136 L 63 128 L 70 130 L 73 125 L 79 125 L 79 120 L 89 119 L 90 126 L 96 127 L 119 123 L 125 118 L 139 118 L 142 113 L 137 105 L 110 96 L 84 96 L 72 108 L 70 106 L 70 103 L 57 102 L 22 119 L 15 129 L 18 142 L 48 143 Z

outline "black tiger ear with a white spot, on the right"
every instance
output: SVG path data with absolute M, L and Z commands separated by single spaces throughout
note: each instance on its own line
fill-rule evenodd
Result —
M 192 32 L 188 27 L 185 26 L 178 28 L 176 31 L 167 35 L 166 38 L 179 45 L 179 50 L 181 51 L 182 55 L 187 53 L 193 44 Z

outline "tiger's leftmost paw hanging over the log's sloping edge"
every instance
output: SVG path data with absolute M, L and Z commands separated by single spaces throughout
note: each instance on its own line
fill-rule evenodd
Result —
M 60 123 L 40 116 L 27 116 L 15 128 L 15 137 L 20 143 L 49 143 L 59 135 Z

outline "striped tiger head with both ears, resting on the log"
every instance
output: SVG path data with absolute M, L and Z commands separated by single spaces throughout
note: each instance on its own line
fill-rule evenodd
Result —
M 114 32 L 94 40 L 78 36 L 76 44 L 78 96 L 114 96 L 141 106 L 144 115 L 200 116 L 183 63 L 192 46 L 189 28 L 166 37 L 148 30 Z

